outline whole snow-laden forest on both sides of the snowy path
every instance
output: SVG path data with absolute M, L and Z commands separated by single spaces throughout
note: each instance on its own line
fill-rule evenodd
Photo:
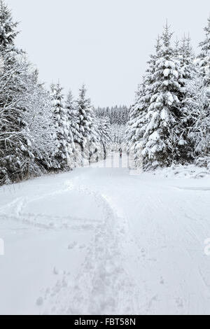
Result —
M 190 36 L 173 41 L 168 23 L 148 59 L 132 106 L 94 108 L 85 85 L 74 99 L 50 90 L 15 46 L 18 22 L 0 1 L 0 184 L 99 161 L 112 147 L 144 169 L 209 165 L 210 18 L 195 55 Z

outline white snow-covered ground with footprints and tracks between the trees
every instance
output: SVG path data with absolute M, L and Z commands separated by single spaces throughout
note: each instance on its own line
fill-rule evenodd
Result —
M 0 314 L 210 314 L 210 176 L 126 166 L 0 189 Z

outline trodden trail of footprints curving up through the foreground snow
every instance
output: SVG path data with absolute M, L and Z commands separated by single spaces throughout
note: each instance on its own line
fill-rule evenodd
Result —
M 104 219 L 94 230 L 94 239 L 73 284 L 64 273 L 45 294 L 50 309 L 44 314 L 130 314 L 136 296 L 134 283 L 123 267 L 123 218 L 118 218 L 104 195 L 85 186 L 75 190 L 92 195 L 97 207 L 102 207 Z M 138 313 L 138 308 L 135 311 Z

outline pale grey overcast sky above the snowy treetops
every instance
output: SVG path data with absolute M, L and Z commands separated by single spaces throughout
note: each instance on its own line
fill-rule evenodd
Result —
M 197 51 L 209 0 L 6 0 L 20 21 L 17 44 L 48 85 L 77 96 L 85 83 L 95 106 L 130 105 L 166 19 Z

